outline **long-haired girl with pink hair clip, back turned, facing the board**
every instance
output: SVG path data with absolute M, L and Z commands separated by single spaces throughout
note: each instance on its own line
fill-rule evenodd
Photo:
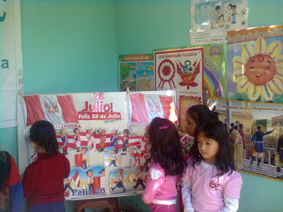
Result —
M 145 162 L 147 186 L 142 194 L 152 212 L 177 212 L 176 178 L 186 162 L 176 126 L 167 119 L 156 117 L 148 130 L 150 158 Z

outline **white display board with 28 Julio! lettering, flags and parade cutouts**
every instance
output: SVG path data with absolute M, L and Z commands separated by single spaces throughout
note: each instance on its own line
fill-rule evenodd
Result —
M 142 96 L 144 104 L 131 100 L 131 95 Z M 18 105 L 19 171 L 24 172 L 37 159 L 28 142 L 30 127 L 37 120 L 50 121 L 59 150 L 70 162 L 71 172 L 65 179 L 66 199 L 110 195 L 111 170 L 122 168 L 125 173 L 139 175 L 137 167 L 148 158 L 147 129 L 151 120 L 167 117 L 170 110 L 177 119 L 175 91 L 35 94 L 18 98 L 23 102 Z M 150 107 L 152 101 L 160 103 L 160 107 Z M 134 110 L 148 113 L 135 116 L 130 113 Z M 134 118 L 143 121 L 133 122 Z M 127 194 L 142 190 L 141 186 L 132 188 L 135 183 L 132 184 Z

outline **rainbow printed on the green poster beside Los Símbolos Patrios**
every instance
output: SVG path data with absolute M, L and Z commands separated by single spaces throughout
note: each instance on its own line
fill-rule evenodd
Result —
M 215 75 L 204 65 L 204 74 L 203 74 L 203 80 L 204 83 L 208 84 L 207 90 L 208 90 L 208 95 L 210 97 L 213 97 L 213 91 L 215 89 L 218 89 L 218 97 L 222 97 L 224 92 L 223 92 L 223 87 L 219 83 L 218 79 L 215 77 Z

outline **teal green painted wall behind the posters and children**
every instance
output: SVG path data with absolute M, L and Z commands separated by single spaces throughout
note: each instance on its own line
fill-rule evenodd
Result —
M 249 27 L 283 24 L 282 0 L 248 5 Z M 21 18 L 24 94 L 118 91 L 119 54 L 190 45 L 187 0 L 21 0 Z M 17 127 L 1 129 L 0 143 L 17 161 Z M 282 211 L 282 182 L 241 175 L 238 211 Z

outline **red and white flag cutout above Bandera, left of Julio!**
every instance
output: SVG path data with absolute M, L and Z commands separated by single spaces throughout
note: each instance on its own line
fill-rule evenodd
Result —
M 78 123 L 73 95 L 26 95 L 24 110 L 27 126 L 39 120 L 53 124 Z

